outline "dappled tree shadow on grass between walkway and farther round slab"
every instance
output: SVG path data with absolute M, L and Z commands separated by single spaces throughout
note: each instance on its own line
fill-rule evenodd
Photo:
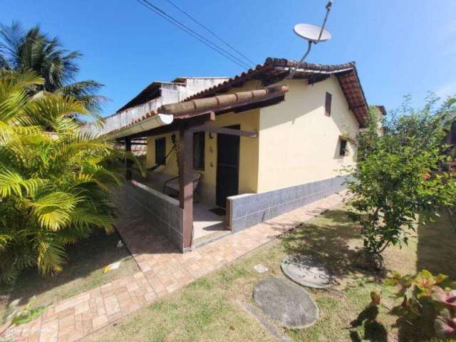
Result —
M 352 271 L 365 275 L 383 275 L 360 269 L 357 247 L 361 245 L 360 241 L 356 241 L 359 239 L 358 229 L 342 209 L 323 212 L 310 223 L 300 224 L 284 234 L 281 239 L 287 254 L 315 257 L 336 278 L 340 279 Z

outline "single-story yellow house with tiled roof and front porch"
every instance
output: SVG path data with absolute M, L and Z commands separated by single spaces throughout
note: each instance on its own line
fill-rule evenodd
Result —
M 125 196 L 186 252 L 342 190 L 368 110 L 355 63 L 267 58 L 109 134 L 147 143 Z

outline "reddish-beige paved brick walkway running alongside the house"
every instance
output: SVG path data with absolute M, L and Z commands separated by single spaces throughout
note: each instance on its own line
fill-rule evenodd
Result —
M 336 206 L 342 198 L 331 195 L 187 254 L 135 217 L 124 217 L 118 231 L 140 271 L 53 304 L 35 321 L 12 328 L 9 336 L 28 342 L 78 341 Z

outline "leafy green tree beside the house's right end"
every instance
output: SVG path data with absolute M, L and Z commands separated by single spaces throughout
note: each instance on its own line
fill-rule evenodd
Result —
M 438 98 L 414 110 L 410 99 L 379 130 L 371 110 L 368 128 L 358 134 L 358 163 L 344 169 L 353 174 L 346 184 L 353 194 L 349 217 L 361 225 L 364 251 L 380 267 L 381 253 L 390 244 L 408 241 L 420 219 L 430 219 L 442 206 L 455 203 L 455 180 L 439 172 L 445 162 L 448 99 L 436 108 Z

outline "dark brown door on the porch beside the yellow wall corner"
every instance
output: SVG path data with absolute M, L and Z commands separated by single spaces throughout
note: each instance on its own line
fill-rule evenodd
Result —
M 239 125 L 229 126 L 239 130 Z M 239 194 L 239 136 L 217 134 L 216 204 L 227 206 L 227 197 Z

